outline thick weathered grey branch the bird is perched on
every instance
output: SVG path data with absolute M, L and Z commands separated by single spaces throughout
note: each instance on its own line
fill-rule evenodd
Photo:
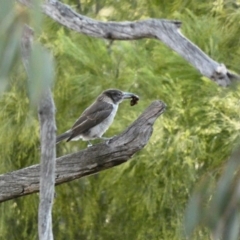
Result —
M 165 104 L 153 102 L 139 118 L 109 144 L 101 143 L 57 158 L 55 184 L 69 182 L 128 161 L 149 141 L 155 120 Z M 0 175 L 0 202 L 39 191 L 40 165 Z

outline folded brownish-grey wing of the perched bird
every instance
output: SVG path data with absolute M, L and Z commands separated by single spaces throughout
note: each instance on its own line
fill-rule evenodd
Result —
M 67 141 L 95 127 L 112 112 L 113 106 L 107 102 L 95 102 L 87 108 L 72 126 L 72 134 Z

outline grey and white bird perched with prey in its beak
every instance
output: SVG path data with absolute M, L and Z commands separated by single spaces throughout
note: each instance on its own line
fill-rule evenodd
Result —
M 112 124 L 119 103 L 130 98 L 139 99 L 133 93 L 122 92 L 117 89 L 108 89 L 102 92 L 95 102 L 82 113 L 72 128 L 57 137 L 56 143 L 64 139 L 67 139 L 67 142 L 82 139 L 88 141 L 88 146 L 91 146 L 90 140 L 96 138 L 107 140 L 102 135 Z

